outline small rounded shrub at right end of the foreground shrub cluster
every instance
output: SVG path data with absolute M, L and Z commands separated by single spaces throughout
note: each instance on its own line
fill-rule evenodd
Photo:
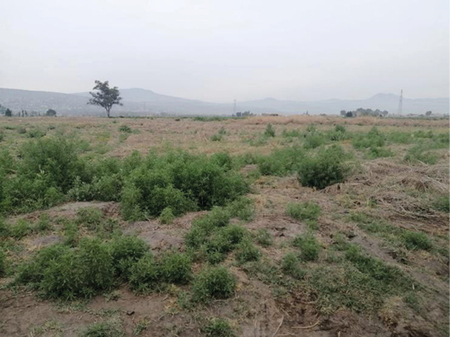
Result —
M 236 277 L 224 267 L 202 270 L 192 285 L 193 299 L 208 302 L 211 299 L 231 297 L 236 288 Z

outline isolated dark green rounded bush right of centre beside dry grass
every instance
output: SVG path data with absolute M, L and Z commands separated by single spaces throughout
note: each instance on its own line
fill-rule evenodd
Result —
M 332 146 L 315 156 L 305 157 L 298 169 L 298 179 L 303 186 L 323 189 L 344 181 L 348 167 L 343 163 L 343 150 Z

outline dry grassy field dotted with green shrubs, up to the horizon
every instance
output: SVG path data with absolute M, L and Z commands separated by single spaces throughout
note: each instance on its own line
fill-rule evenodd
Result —
M 448 119 L 1 118 L 2 336 L 448 336 Z

